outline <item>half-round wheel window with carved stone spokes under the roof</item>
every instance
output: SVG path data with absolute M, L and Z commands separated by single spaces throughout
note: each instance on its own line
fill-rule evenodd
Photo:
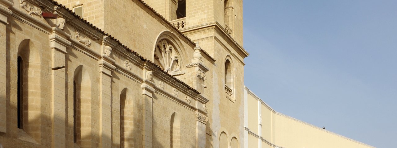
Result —
M 167 39 L 161 39 L 156 43 L 154 63 L 173 76 L 184 74 L 182 72 L 182 60 L 177 49 L 175 49 L 175 44 Z

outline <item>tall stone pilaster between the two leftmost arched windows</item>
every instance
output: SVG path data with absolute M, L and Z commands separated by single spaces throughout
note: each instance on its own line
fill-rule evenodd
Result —
M 66 47 L 71 43 L 67 41 L 69 34 L 60 28 L 53 27 L 50 34 L 50 47 L 52 52 L 52 148 L 65 148 L 66 146 Z

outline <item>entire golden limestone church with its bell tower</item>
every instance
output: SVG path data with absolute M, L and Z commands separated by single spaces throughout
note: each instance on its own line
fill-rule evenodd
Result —
M 0 146 L 243 147 L 242 0 L 0 0 Z

